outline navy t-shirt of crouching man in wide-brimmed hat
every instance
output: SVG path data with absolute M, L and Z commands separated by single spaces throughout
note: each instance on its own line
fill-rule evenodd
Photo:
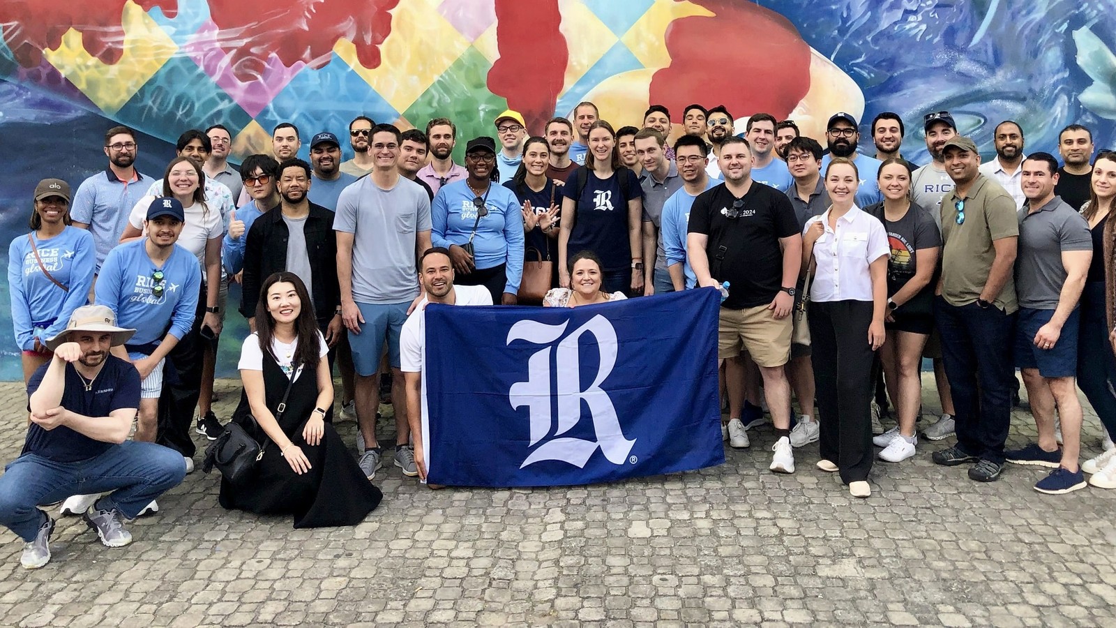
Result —
M 28 403 L 49 367 L 50 362 L 39 367 L 27 382 Z M 66 390 L 60 406 L 86 417 L 107 417 L 121 408 L 140 408 L 140 372 L 128 362 L 109 355 L 93 380 L 93 390 L 86 392 L 81 375 L 73 364 L 66 364 Z M 47 431 L 31 424 L 20 455 L 36 454 L 56 463 L 76 463 L 99 456 L 112 446 L 65 426 Z

